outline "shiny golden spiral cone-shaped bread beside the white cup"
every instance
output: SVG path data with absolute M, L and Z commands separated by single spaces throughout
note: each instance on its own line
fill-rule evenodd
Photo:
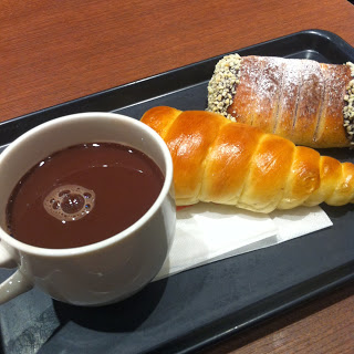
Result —
M 211 201 L 270 212 L 354 202 L 354 165 L 205 111 L 160 106 L 142 122 L 166 142 L 177 206 Z

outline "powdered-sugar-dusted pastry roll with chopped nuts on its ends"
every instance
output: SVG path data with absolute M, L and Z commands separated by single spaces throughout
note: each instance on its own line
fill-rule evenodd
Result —
M 207 111 L 310 147 L 345 147 L 354 134 L 354 65 L 227 55 L 208 85 Z

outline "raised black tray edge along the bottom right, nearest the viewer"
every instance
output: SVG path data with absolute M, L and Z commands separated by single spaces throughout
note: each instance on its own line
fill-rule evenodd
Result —
M 303 303 L 313 301 L 331 291 L 340 290 L 351 282 L 354 282 L 354 260 L 295 287 L 272 294 L 260 302 L 253 303 L 251 306 L 242 309 L 237 314 L 231 313 L 228 317 L 217 321 L 217 323 L 208 324 L 207 327 L 195 331 L 192 335 L 179 337 L 174 343 L 167 343 L 165 346 L 159 347 L 156 353 L 187 354 L 217 345 L 240 332 L 266 323 Z M 312 290 L 309 291 L 308 287 L 312 288 Z M 251 319 L 248 316 L 249 311 L 254 313 Z M 238 320 L 235 317 L 238 317 Z M 209 333 L 206 335 L 205 332 L 207 331 Z M 155 353 L 155 351 L 148 353 Z

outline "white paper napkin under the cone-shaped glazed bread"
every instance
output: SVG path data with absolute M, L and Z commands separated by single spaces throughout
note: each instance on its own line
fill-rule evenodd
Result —
M 198 204 L 177 211 L 175 240 L 155 280 L 332 225 L 320 207 L 261 215 L 230 206 Z

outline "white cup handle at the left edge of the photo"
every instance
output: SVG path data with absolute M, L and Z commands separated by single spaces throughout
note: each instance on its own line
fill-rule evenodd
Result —
M 3 248 L 0 241 L 0 267 L 13 268 L 15 262 Z M 11 277 L 0 284 L 0 304 L 8 302 L 9 300 L 31 290 L 33 284 L 21 272 L 17 270 Z

